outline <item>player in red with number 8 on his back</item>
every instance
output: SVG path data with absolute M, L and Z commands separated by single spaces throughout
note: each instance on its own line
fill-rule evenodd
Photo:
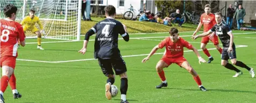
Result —
M 0 20 L 0 29 L 1 29 L 1 68 L 2 68 L 2 77 L 1 77 L 1 100 L 4 102 L 3 93 L 8 86 L 8 81 L 10 78 L 10 83 L 16 82 L 14 78 L 11 79 L 13 71 L 16 66 L 16 58 L 18 56 L 18 39 L 22 46 L 25 46 L 25 34 L 20 23 L 16 22 L 16 12 L 17 7 L 12 4 L 4 6 L 4 14 L 6 19 Z M 14 76 L 14 75 L 13 75 Z M 13 86 L 13 85 L 12 85 Z

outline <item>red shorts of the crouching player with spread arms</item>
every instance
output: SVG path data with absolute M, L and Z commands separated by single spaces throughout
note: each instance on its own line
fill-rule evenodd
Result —
M 187 61 L 183 56 L 182 57 L 174 57 L 174 58 L 162 57 L 161 60 L 165 61 L 165 63 L 168 66 L 171 65 L 172 63 L 175 63 L 175 64 L 181 66 L 184 61 Z

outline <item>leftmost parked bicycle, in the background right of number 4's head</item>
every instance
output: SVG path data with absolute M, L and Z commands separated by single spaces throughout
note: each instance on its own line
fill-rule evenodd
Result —
M 141 11 L 141 9 L 139 9 L 137 12 L 137 10 L 134 10 L 133 6 L 130 4 L 129 11 L 126 11 L 124 13 L 123 17 L 125 20 L 132 20 L 134 18 L 133 14 L 136 14 L 136 17 L 134 19 L 137 19 L 137 18 L 140 18 L 141 13 L 145 13 L 145 12 Z M 125 16 L 125 15 L 127 15 L 127 16 Z

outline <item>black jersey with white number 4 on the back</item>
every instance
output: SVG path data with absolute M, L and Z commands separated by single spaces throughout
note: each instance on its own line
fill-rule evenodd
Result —
M 94 58 L 115 59 L 121 58 L 118 49 L 118 35 L 128 36 L 121 22 L 106 18 L 91 28 L 96 34 L 94 44 Z

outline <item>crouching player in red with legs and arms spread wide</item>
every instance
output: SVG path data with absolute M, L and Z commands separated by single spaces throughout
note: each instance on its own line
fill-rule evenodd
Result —
M 176 28 L 171 28 L 169 31 L 170 37 L 165 38 L 161 43 L 153 48 L 150 54 L 142 60 L 145 63 L 150 57 L 158 50 L 165 47 L 165 54 L 162 59 L 158 61 L 157 64 L 157 72 L 159 77 L 162 80 L 160 85 L 157 85 L 155 88 L 162 88 L 163 86 L 167 86 L 167 81 L 165 78 L 165 73 L 163 72 L 163 68 L 168 67 L 170 64 L 175 63 L 185 69 L 193 75 L 194 80 L 198 84 L 201 91 L 207 91 L 201 83 L 200 77 L 196 73 L 196 71 L 189 65 L 188 61 L 183 57 L 183 47 L 187 47 L 187 49 L 193 50 L 196 56 L 199 59 L 199 63 L 206 62 L 198 53 L 197 49 L 185 41 L 183 38 L 179 37 L 178 30 Z

